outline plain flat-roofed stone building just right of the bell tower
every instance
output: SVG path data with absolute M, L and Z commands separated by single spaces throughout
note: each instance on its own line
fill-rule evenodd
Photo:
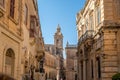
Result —
M 77 80 L 77 46 L 67 43 L 65 52 L 66 80 Z

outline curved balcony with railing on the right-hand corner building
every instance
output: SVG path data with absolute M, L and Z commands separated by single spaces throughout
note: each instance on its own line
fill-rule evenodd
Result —
M 79 41 L 78 41 L 78 45 L 81 45 L 81 43 L 83 42 L 83 41 L 86 41 L 87 39 L 91 39 L 91 38 L 93 38 L 94 37 L 94 30 L 87 30 L 86 32 L 85 32 L 85 34 L 83 34 L 81 37 L 80 37 L 80 39 L 79 39 Z

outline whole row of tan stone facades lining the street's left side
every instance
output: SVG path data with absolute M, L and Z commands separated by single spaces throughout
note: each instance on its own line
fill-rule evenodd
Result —
M 0 51 L 0 73 L 16 80 L 40 73 L 44 42 L 37 0 L 0 0 Z

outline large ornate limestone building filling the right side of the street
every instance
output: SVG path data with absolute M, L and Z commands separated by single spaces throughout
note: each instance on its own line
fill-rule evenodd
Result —
M 120 72 L 120 0 L 87 0 L 77 14 L 78 80 Z

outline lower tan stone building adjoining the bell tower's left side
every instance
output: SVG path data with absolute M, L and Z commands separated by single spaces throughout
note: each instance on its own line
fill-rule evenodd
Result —
M 51 44 L 45 44 L 45 78 L 55 80 L 57 79 L 57 55 L 55 53 L 55 47 Z

